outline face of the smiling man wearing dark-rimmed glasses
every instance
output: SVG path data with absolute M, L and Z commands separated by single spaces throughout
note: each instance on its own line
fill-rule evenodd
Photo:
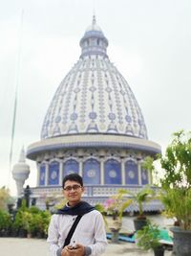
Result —
M 74 206 L 80 201 L 83 192 L 84 188 L 78 182 L 74 180 L 65 182 L 63 194 L 70 206 Z

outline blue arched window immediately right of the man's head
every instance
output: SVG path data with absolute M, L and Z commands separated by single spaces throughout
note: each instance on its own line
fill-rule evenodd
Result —
M 100 184 L 100 164 L 94 159 L 88 159 L 83 164 L 84 184 Z

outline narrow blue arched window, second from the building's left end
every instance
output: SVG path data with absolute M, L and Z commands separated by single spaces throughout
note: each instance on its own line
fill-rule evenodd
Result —
M 53 161 L 49 165 L 49 185 L 59 184 L 59 162 Z

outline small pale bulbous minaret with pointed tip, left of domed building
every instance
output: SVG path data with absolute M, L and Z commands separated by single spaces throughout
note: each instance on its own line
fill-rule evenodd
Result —
M 12 169 L 12 177 L 16 181 L 18 198 L 21 197 L 25 180 L 28 179 L 29 175 L 30 175 L 30 166 L 25 162 L 25 151 L 23 148 L 20 152 L 18 163 L 15 164 Z

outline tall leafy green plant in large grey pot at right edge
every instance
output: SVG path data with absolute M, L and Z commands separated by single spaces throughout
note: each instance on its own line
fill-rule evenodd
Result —
M 191 252 L 191 132 L 174 133 L 164 156 L 159 157 L 164 171 L 160 178 L 161 201 L 168 216 L 177 219 L 171 231 L 176 255 Z

